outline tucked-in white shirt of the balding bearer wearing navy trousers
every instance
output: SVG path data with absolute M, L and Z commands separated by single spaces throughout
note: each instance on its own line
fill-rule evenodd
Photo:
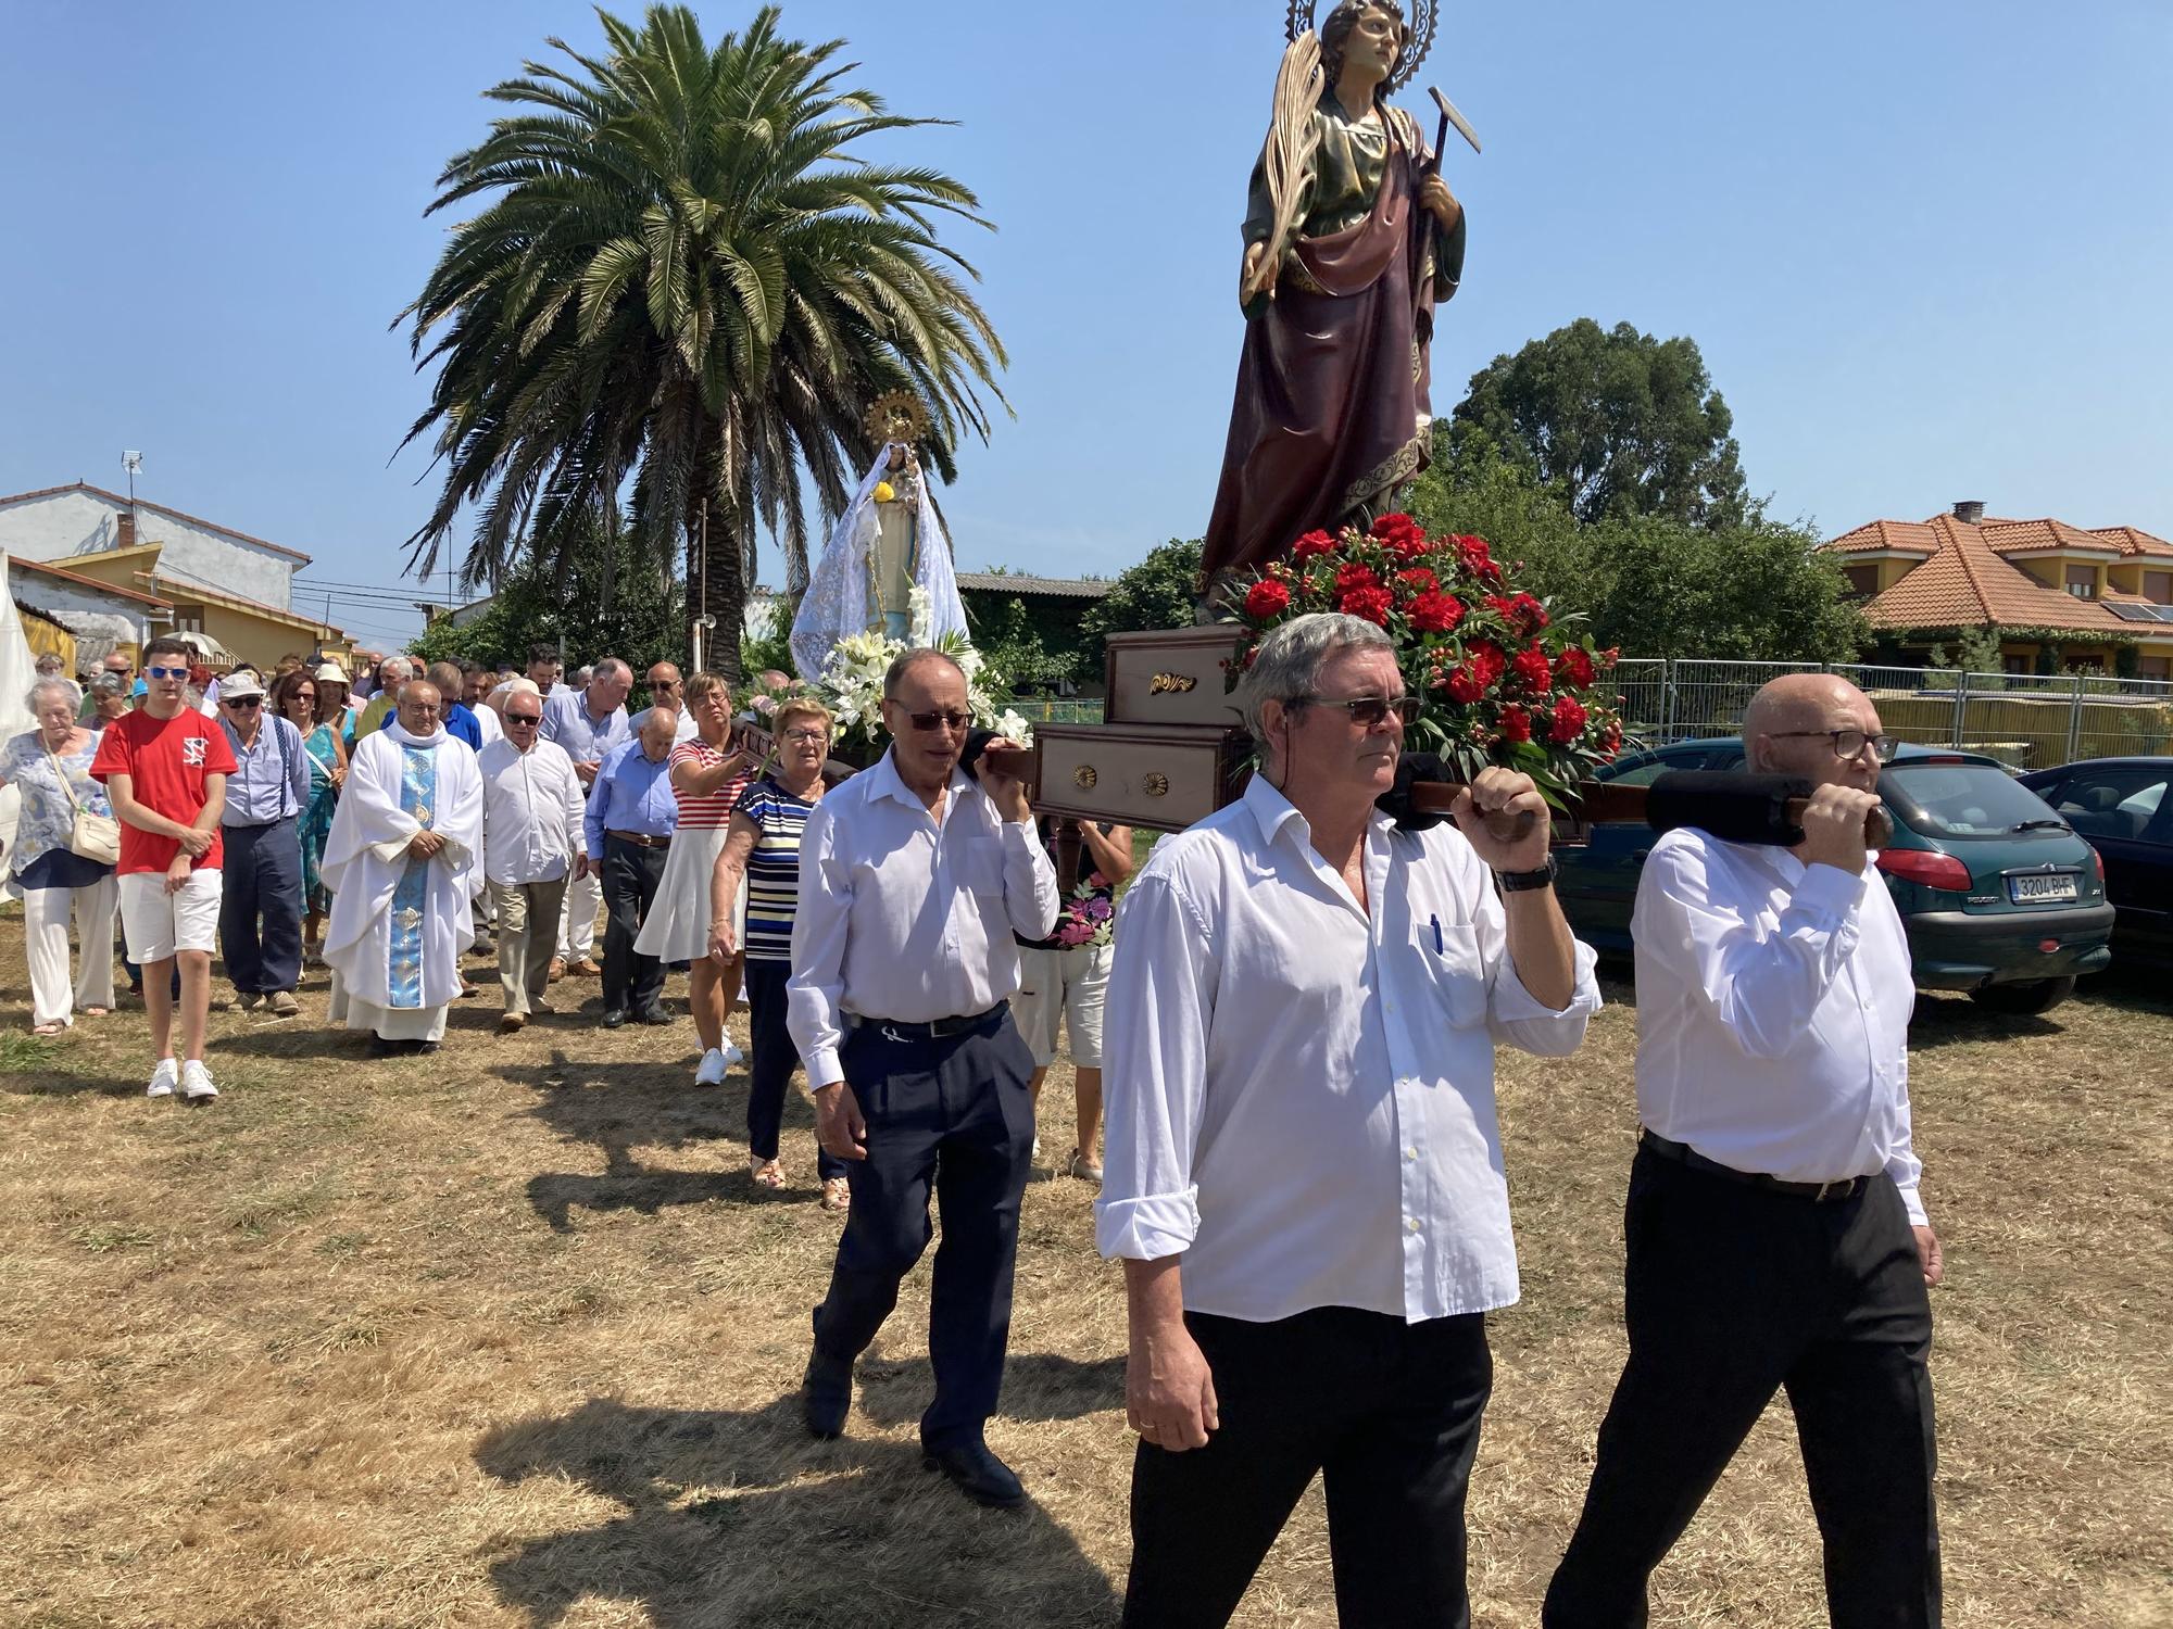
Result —
M 1030 823 L 952 771 L 941 825 L 891 754 L 824 793 L 800 836 L 787 1027 L 808 1086 L 845 1077 L 845 1014 L 934 1023 L 1019 993 L 1013 932 L 1056 930 L 1056 871 Z

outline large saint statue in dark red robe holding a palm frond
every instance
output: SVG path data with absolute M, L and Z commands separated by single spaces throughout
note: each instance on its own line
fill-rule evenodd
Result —
M 1312 7 L 1295 0 L 1293 33 Z M 1389 93 L 1417 72 L 1395 0 L 1339 0 L 1297 33 L 1252 172 L 1245 350 L 1206 532 L 1210 584 L 1302 534 L 1369 523 L 1428 465 L 1434 304 L 1465 269 L 1465 211 Z M 1445 109 L 1447 113 L 1447 109 Z

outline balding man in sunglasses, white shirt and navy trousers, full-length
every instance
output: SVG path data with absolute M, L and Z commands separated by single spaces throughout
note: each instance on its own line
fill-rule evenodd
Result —
M 1056 873 L 1026 786 L 993 771 L 976 782 L 958 765 L 971 715 L 950 656 L 891 662 L 882 723 L 889 754 L 826 793 L 800 838 L 787 1027 L 815 1088 L 817 1136 L 852 1184 L 802 1407 L 815 1436 L 845 1429 L 852 1364 L 928 1247 L 932 1184 L 943 1245 L 921 1447 L 969 1499 L 1017 1505 L 1026 1490 L 982 1438 L 1004 1384 L 1034 1145 L 1034 1056 L 1008 997 L 1013 934 L 1056 927 Z

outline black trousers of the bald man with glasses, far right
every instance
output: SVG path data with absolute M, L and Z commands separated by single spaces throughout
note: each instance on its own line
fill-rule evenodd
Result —
M 1630 1362 L 1543 1625 L 1645 1625 L 1651 1570 L 1778 1388 L 1834 1629 L 1938 1625 L 1932 1303 L 1893 1182 L 1812 1203 L 1641 1149 L 1623 1232 Z

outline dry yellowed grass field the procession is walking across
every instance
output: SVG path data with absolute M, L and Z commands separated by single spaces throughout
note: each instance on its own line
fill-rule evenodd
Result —
M 678 986 L 674 986 L 678 988 Z M 2173 1622 L 2173 1003 L 2164 982 L 1999 1021 L 1923 997 L 1917 1138 L 1949 1625 Z M 1091 1190 L 1028 1192 L 991 1442 L 1026 1514 L 919 1468 L 926 1264 L 850 1434 L 793 1388 L 837 1221 L 811 1112 L 748 1182 L 745 1079 L 693 1032 L 465 1003 L 432 1060 L 213 1019 L 224 1099 L 150 1103 L 141 1014 L 26 1034 L 0 921 L 0 1622 L 1106 1625 L 1126 1566 L 1123 1299 Z M 1478 1622 L 1532 1625 L 1617 1366 L 1630 990 L 1580 1058 L 1506 1056 L 1525 1273 L 1493 1321 Z M 734 1030 L 745 1038 L 743 1023 Z M 1069 1075 L 1043 1099 L 1069 1147 Z M 1334 1622 L 1319 1492 L 1241 1612 Z M 1658 1625 L 1823 1625 L 1786 1410 L 1658 1579 Z

